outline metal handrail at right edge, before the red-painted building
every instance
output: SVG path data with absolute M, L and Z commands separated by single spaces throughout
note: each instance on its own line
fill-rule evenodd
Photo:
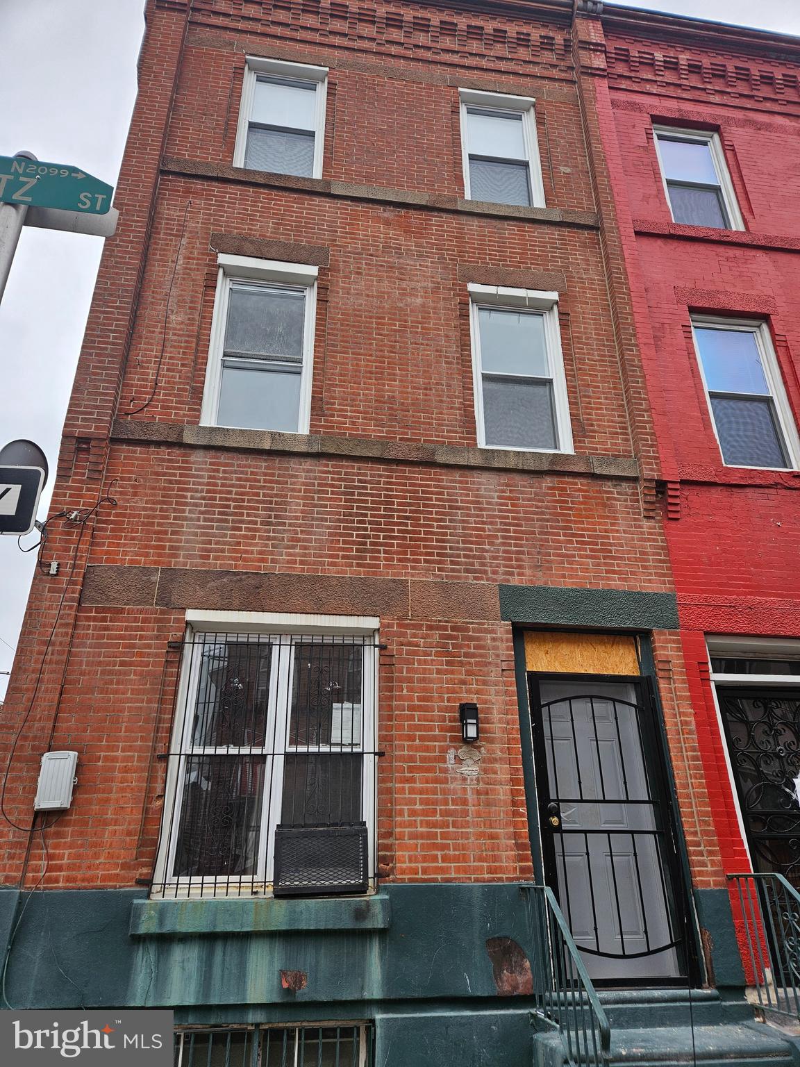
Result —
M 729 874 L 736 883 L 748 984 L 763 1010 L 800 1019 L 800 893 L 782 874 Z

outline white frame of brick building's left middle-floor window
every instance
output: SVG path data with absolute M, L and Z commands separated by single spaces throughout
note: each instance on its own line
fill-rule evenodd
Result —
M 236 282 L 258 282 L 267 286 L 305 290 L 303 320 L 303 365 L 300 380 L 300 410 L 297 430 L 261 430 L 262 433 L 308 433 L 311 413 L 311 379 L 314 377 L 314 331 L 317 319 L 317 275 L 319 269 L 308 264 L 285 264 L 252 256 L 217 256 L 219 272 L 214 294 L 211 339 L 208 347 L 206 384 L 201 408 L 201 426 L 221 426 L 217 421 L 222 384 L 222 361 L 227 327 L 230 287 Z M 255 362 L 255 361 L 254 361 Z M 247 426 L 228 429 L 249 430 Z

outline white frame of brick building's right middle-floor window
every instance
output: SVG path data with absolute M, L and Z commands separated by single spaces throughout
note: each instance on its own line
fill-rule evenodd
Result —
M 561 349 L 561 330 L 558 321 L 558 293 L 540 289 L 513 289 L 505 286 L 477 285 L 467 286 L 469 292 L 469 334 L 473 350 L 473 385 L 475 391 L 475 421 L 478 430 L 480 448 L 501 448 L 506 451 L 549 452 L 573 455 L 572 421 L 570 419 L 570 399 L 566 393 L 566 375 L 564 373 L 564 356 Z M 508 308 L 512 312 L 544 313 L 544 337 L 547 361 L 553 381 L 553 407 L 556 415 L 556 432 L 558 448 L 524 448 L 518 445 L 492 445 L 486 443 L 483 424 L 483 370 L 480 352 L 480 323 L 478 309 L 481 307 Z M 519 376 L 532 377 L 538 376 Z

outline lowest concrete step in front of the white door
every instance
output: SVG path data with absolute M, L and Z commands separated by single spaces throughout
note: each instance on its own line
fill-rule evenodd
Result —
M 789 1044 L 764 1023 L 646 1026 L 611 1031 L 611 1063 L 636 1067 L 789 1067 Z

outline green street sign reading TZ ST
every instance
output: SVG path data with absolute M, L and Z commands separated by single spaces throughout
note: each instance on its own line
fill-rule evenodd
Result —
M 0 156 L 0 203 L 106 214 L 114 187 L 78 166 Z

